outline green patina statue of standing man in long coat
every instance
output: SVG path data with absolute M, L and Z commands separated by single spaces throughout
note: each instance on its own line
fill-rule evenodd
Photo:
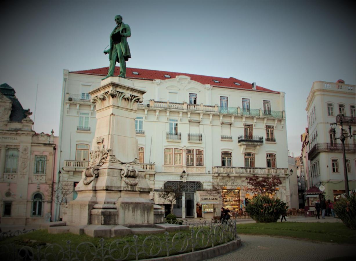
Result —
M 126 61 L 131 58 L 129 44 L 127 37 L 131 36 L 131 29 L 129 25 L 122 22 L 122 16 L 116 15 L 115 22 L 117 26 L 110 34 L 110 49 L 104 51 L 104 54 L 109 54 L 110 67 L 108 75 L 102 80 L 114 75 L 116 62 L 120 62 L 119 77 L 126 77 Z

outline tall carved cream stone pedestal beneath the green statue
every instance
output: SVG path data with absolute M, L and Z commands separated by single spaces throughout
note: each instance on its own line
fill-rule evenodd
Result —
M 96 104 L 96 129 L 89 167 L 63 210 L 67 225 L 153 224 L 152 190 L 138 164 L 135 118 L 143 90 L 110 77 L 89 94 Z

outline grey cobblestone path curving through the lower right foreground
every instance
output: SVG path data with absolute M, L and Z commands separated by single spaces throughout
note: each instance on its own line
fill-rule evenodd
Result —
M 305 240 L 271 236 L 240 235 L 241 247 L 229 254 L 216 257 L 215 261 L 260 260 L 327 260 L 333 257 L 355 256 L 355 245 L 318 243 Z

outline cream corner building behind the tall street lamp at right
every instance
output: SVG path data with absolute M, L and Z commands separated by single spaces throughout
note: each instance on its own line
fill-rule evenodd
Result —
M 325 187 L 326 199 L 334 200 L 345 193 L 344 160 L 341 141 L 333 140 L 330 123 L 337 122 L 336 137 L 340 136 L 339 122 L 336 115 L 344 114 L 350 121 L 352 139 L 345 141 L 346 168 L 349 188 L 356 188 L 356 85 L 317 81 L 313 83 L 308 95 L 308 188 Z M 344 130 L 349 134 L 348 124 Z M 345 132 L 345 133 L 346 133 Z

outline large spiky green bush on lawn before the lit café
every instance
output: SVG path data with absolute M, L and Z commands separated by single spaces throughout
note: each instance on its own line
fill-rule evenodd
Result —
M 287 203 L 281 199 L 269 198 L 266 195 L 248 200 L 246 212 L 256 222 L 269 223 L 276 222 L 279 216 L 286 213 Z

